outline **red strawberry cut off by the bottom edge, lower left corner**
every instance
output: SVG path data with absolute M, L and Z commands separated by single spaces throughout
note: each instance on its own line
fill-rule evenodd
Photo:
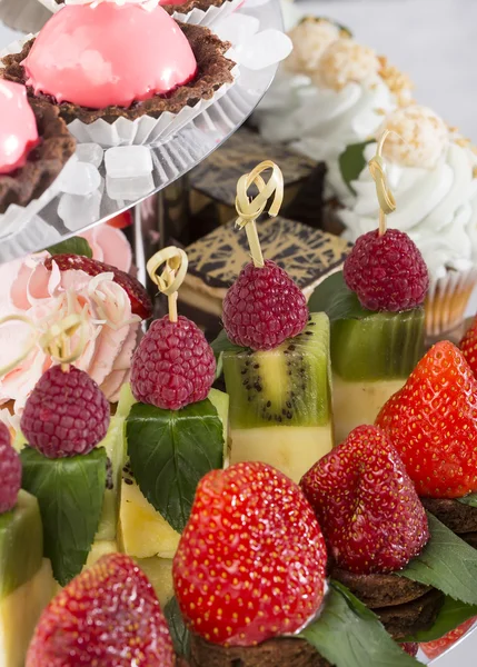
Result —
M 152 586 L 129 556 L 103 556 L 42 613 L 26 667 L 172 667 L 168 626 Z

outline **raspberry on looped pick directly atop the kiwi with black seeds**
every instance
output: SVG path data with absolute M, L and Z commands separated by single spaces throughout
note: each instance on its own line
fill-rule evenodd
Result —
M 275 261 L 248 263 L 223 300 L 223 327 L 231 342 L 271 350 L 301 334 L 308 321 L 302 291 Z

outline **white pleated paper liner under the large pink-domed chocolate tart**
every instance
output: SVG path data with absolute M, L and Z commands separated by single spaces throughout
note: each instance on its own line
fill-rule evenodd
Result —
M 4 58 L 10 53 L 19 53 L 23 48 L 23 44 L 33 37 L 36 36 L 28 34 L 22 39 L 11 42 L 0 51 L 0 58 Z M 226 58 L 231 54 L 230 50 L 226 53 Z M 106 122 L 102 118 L 90 125 L 76 119 L 69 123 L 68 129 L 80 143 L 99 143 L 103 148 L 132 145 L 158 146 L 165 143 L 230 90 L 239 77 L 239 66 L 236 64 L 230 73 L 233 77 L 231 83 L 221 86 L 209 100 L 200 100 L 195 107 L 185 107 L 178 113 L 165 111 L 159 118 L 142 116 L 136 120 L 118 118 L 113 123 Z

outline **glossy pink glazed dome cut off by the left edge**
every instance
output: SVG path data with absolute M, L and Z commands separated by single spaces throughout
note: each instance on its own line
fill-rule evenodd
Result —
M 0 80 L 0 173 L 23 167 L 37 143 L 37 120 L 24 87 Z

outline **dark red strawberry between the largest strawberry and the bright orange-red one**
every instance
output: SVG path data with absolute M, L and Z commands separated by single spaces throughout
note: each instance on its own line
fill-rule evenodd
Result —
M 417 556 L 429 531 L 399 455 L 374 426 L 358 426 L 302 477 L 338 567 L 359 575 L 394 573 Z

